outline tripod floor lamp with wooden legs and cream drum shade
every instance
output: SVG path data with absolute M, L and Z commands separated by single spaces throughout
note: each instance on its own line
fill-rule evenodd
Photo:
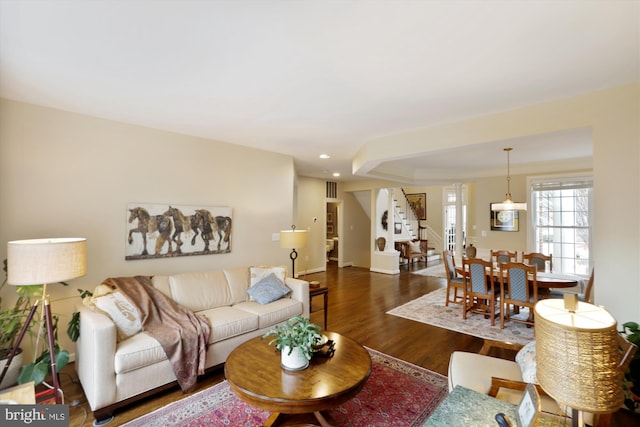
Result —
M 9 369 L 25 333 L 33 320 L 38 304 L 44 306 L 47 327 L 51 375 L 56 403 L 62 403 L 60 384 L 56 372 L 55 343 L 51 306 L 47 295 L 47 283 L 58 283 L 84 276 L 87 271 L 87 241 L 82 238 L 15 240 L 7 243 L 7 283 L 15 286 L 42 284 L 42 298 L 36 300 L 22 326 L 7 363 L 0 374 L 0 382 Z M 35 349 L 34 349 L 35 350 Z

